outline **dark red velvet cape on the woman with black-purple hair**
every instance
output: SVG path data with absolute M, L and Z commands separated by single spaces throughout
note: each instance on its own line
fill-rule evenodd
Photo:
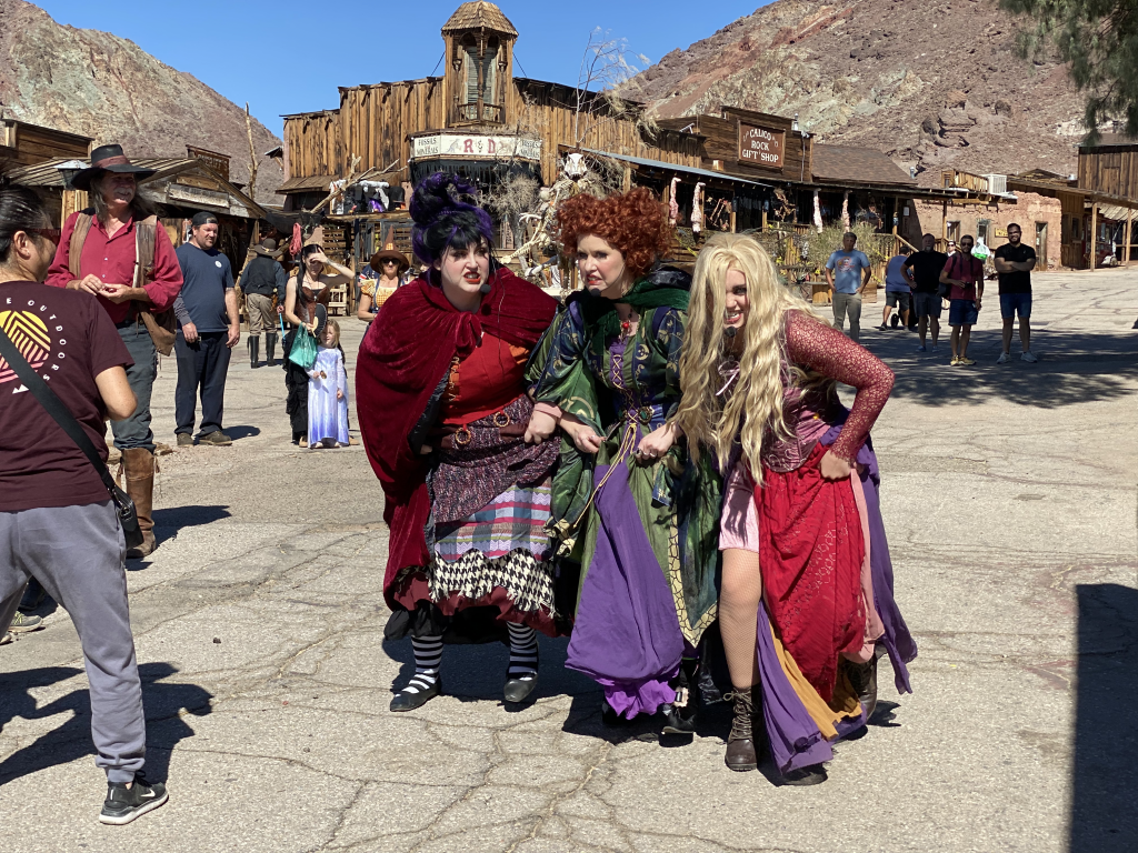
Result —
M 390 528 L 385 596 L 396 573 L 427 565 L 423 527 L 430 515 L 428 462 L 409 438 L 457 356 L 481 346 L 486 331 L 533 348 L 553 322 L 558 303 L 537 285 L 500 267 L 476 312 L 461 312 L 443 289 L 415 279 L 396 290 L 360 345 L 356 409 L 364 448 L 384 486 L 384 521 Z

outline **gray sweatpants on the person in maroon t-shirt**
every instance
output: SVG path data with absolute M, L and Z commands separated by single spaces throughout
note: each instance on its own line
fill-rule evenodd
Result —
M 132 781 L 146 754 L 125 560 L 110 500 L 0 512 L 0 626 L 11 623 L 28 577 L 71 615 L 91 686 L 94 763 L 113 782 Z

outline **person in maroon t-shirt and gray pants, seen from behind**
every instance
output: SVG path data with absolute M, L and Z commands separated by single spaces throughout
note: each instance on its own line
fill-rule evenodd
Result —
M 82 425 L 104 464 L 107 416 L 135 406 L 131 357 L 96 298 L 40 283 L 59 232 L 30 190 L 0 190 L 0 329 Z M 166 802 L 142 776 L 146 717 L 126 604 L 126 544 L 102 479 L 0 358 L 0 632 L 30 578 L 79 631 L 96 764 L 107 773 L 99 820 L 129 823 Z

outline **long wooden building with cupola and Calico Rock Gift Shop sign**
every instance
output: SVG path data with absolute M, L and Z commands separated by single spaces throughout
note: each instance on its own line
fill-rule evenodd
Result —
M 699 242 L 690 227 L 698 188 L 704 234 L 777 225 L 805 242 L 810 229 L 848 220 L 869 223 L 893 248 L 907 234 L 920 235 L 913 199 L 976 196 L 922 189 L 884 154 L 820 143 L 797 118 L 726 107 L 651 122 L 644 105 L 516 76 L 519 33 L 484 0 L 462 3 L 442 36 L 440 76 L 340 88 L 336 109 L 284 116 L 278 192 L 287 212 L 314 212 L 336 182 L 369 172 L 368 180 L 405 187 L 439 169 L 484 188 L 518 174 L 551 185 L 564 158 L 580 154 L 622 173 L 625 187 L 650 187 L 675 200 L 678 231 L 686 230 L 679 239 L 691 254 Z M 328 218 L 344 230 L 345 257 L 358 268 L 380 234 L 402 237 L 405 224 L 393 216 L 406 223 L 405 214 L 391 213 Z M 500 223 L 501 248 L 513 248 L 513 229 Z M 805 266 L 805 257 L 783 259 L 784 266 L 798 262 Z M 809 266 L 817 272 L 816 263 Z

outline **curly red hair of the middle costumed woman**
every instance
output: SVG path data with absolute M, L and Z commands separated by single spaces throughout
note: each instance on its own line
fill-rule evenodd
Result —
M 558 208 L 558 239 L 563 254 L 576 255 L 577 241 L 591 234 L 624 255 L 628 271 L 640 278 L 667 254 L 671 226 L 651 190 L 637 187 L 608 198 L 582 193 Z

